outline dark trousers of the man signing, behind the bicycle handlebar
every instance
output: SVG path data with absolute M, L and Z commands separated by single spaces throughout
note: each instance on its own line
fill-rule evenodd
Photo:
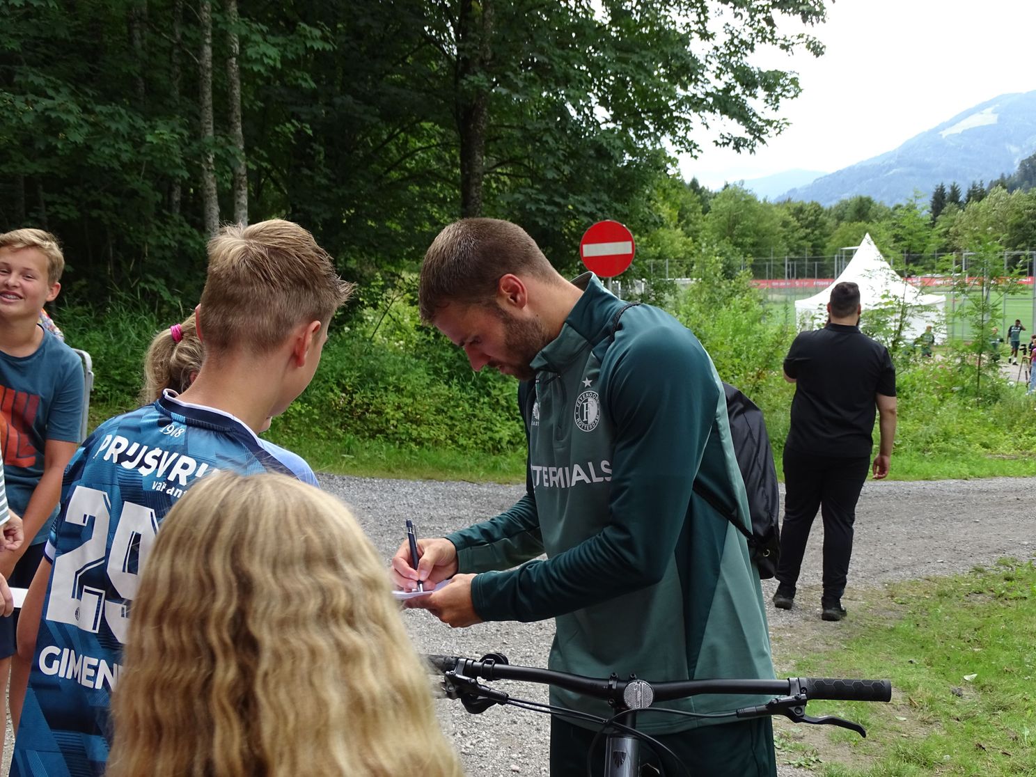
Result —
M 595 731 L 557 717 L 550 719 L 550 777 L 585 777 Z M 692 777 L 776 777 L 773 722 L 769 717 L 701 726 L 655 737 L 690 770 Z M 661 761 L 640 745 L 641 774 L 686 775 L 667 754 Z M 594 777 L 604 771 L 604 736 L 594 748 Z M 654 767 L 654 768 L 653 768 Z M 664 772 L 661 771 L 664 768 Z

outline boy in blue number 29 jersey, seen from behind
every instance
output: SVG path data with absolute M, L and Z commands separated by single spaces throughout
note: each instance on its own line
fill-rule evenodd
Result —
M 109 699 L 138 576 L 183 492 L 220 469 L 290 473 L 255 430 L 309 384 L 332 315 L 352 287 L 313 236 L 290 222 L 226 227 L 208 254 L 196 319 L 205 343 L 197 378 L 182 394 L 167 391 L 107 421 L 68 466 L 61 515 L 19 632 L 32 674 L 15 777 L 104 774 Z M 204 526 L 198 538 L 204 542 Z M 29 628 L 37 624 L 38 638 Z

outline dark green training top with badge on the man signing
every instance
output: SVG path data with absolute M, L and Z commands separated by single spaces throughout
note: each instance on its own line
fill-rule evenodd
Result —
M 485 572 L 472 583 L 474 609 L 486 621 L 556 618 L 549 666 L 559 671 L 772 679 L 748 547 L 692 491 L 696 473 L 748 514 L 712 361 L 686 327 L 648 305 L 623 314 L 612 341 L 624 303 L 591 274 L 575 284 L 583 295 L 533 362 L 528 492 L 449 537 L 461 572 Z M 544 550 L 546 560 L 529 560 Z M 759 701 L 714 695 L 664 706 L 711 712 Z M 605 702 L 555 688 L 551 702 L 610 716 Z M 637 727 L 729 721 L 642 714 Z

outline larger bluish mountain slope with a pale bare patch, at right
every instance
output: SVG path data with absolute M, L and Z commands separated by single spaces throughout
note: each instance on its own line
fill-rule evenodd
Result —
M 1001 94 L 921 133 L 898 148 L 859 162 L 777 199 L 816 200 L 831 205 L 869 195 L 889 205 L 910 199 L 914 190 L 928 197 L 942 181 L 967 190 L 973 180 L 988 181 L 1014 172 L 1036 151 L 1036 90 Z

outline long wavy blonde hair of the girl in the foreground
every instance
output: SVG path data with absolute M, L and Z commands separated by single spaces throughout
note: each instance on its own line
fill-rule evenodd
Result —
M 370 541 L 335 497 L 221 472 L 163 522 L 109 777 L 460 777 Z

